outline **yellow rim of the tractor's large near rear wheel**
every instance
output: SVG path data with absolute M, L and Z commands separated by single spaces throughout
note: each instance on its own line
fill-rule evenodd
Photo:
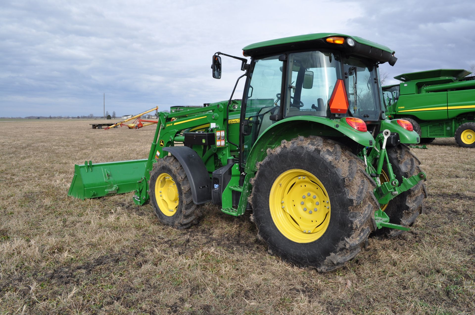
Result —
M 332 209 L 322 182 L 302 169 L 277 177 L 270 190 L 269 208 L 277 229 L 297 243 L 319 239 L 330 223 Z

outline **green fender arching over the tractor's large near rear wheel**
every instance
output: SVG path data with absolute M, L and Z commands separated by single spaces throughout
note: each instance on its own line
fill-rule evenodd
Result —
M 267 156 L 267 149 L 276 148 L 282 140 L 290 141 L 298 136 L 307 137 L 311 135 L 348 137 L 365 147 L 373 147 L 374 145 L 371 133 L 353 129 L 346 123 L 345 118 L 328 119 L 318 116 L 294 116 L 276 122 L 257 138 L 247 158 L 245 172 L 254 172 L 256 163 Z

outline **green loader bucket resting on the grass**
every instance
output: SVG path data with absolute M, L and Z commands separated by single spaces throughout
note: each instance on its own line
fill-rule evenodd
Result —
M 144 176 L 146 164 L 147 159 L 76 164 L 67 195 L 84 200 L 132 192 Z

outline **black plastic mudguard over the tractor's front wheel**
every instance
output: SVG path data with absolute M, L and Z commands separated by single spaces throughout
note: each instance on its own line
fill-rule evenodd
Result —
M 170 152 L 176 157 L 185 170 L 190 182 L 191 195 L 194 204 L 204 204 L 211 201 L 211 178 L 203 161 L 195 150 L 188 147 L 167 147 L 163 151 Z

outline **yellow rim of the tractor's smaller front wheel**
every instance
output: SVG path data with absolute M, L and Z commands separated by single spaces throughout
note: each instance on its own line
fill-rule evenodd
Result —
M 167 173 L 161 173 L 155 181 L 155 200 L 163 214 L 172 216 L 177 212 L 178 188 L 173 178 Z

